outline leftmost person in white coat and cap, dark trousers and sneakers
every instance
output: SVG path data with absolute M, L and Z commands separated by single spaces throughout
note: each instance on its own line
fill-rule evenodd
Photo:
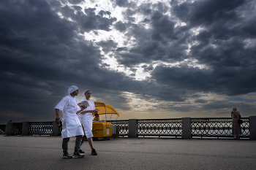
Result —
M 80 109 L 78 107 L 78 100 L 75 98 L 75 96 L 78 96 L 79 88 L 75 85 L 71 85 L 69 89 L 67 90 L 68 96 L 65 96 L 62 98 L 62 100 L 59 102 L 59 104 L 55 107 L 55 113 L 56 113 L 56 123 L 59 125 L 62 123 L 62 131 L 61 131 L 61 137 L 63 139 L 62 141 L 62 149 L 63 149 L 63 157 L 62 158 L 72 158 L 71 155 L 68 153 L 68 142 L 69 138 L 72 136 L 76 136 L 75 140 L 75 152 L 73 157 L 74 158 L 83 158 L 84 155 L 81 155 L 80 150 L 80 144 L 82 142 L 82 136 L 83 134 L 83 128 L 80 123 L 78 113 L 82 112 L 83 109 Z M 59 113 L 62 112 L 63 118 L 60 119 Z

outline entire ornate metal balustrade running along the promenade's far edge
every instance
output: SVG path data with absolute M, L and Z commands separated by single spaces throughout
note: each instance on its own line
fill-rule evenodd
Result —
M 189 117 L 187 117 L 189 118 Z M 111 121 L 112 125 L 119 126 L 119 136 L 181 136 L 185 139 L 185 135 L 191 134 L 192 137 L 233 137 L 232 134 L 232 120 L 230 117 L 214 117 L 214 118 L 189 118 L 188 122 L 184 122 L 184 118 L 180 119 L 148 119 L 148 120 L 116 120 Z M 256 117 L 242 117 L 244 123 L 241 124 L 242 134 L 241 138 L 255 139 L 255 122 Z M 129 129 L 129 123 L 132 128 Z M 250 123 L 253 134 L 250 134 Z M 7 128 L 9 125 L 10 128 Z M 25 135 L 61 135 L 62 128 L 59 128 L 54 121 L 52 122 L 25 122 L 23 123 L 8 123 L 7 125 L 0 125 L 0 134 L 21 135 L 25 129 Z M 25 125 L 25 126 L 23 126 Z M 53 128 L 54 126 L 54 128 Z M 182 126 L 184 129 L 182 129 Z M 189 126 L 191 128 L 189 128 Z M 134 128 L 135 127 L 135 128 Z M 9 130 L 7 130 L 9 129 Z M 7 133 L 7 131 L 9 131 Z M 53 134 L 54 131 L 54 134 Z M 24 135 L 23 134 L 23 135 Z M 184 134 L 184 136 L 183 136 Z

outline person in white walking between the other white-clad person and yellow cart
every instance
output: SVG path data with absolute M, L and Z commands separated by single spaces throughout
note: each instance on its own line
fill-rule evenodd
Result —
M 94 136 L 91 132 L 92 130 L 92 120 L 93 117 L 92 115 L 97 114 L 98 112 L 95 111 L 95 105 L 94 105 L 94 101 L 91 101 L 91 90 L 84 90 L 83 91 L 83 96 L 85 96 L 86 98 L 83 98 L 81 101 L 88 101 L 88 103 L 90 104 L 89 107 L 87 107 L 83 112 L 85 112 L 85 114 L 78 114 L 80 117 L 80 121 L 83 125 L 83 129 L 85 131 L 85 135 L 83 136 L 81 145 L 83 144 L 84 140 L 88 139 L 89 145 L 91 147 L 91 155 L 97 155 L 96 150 L 94 149 L 94 144 L 92 142 L 92 137 Z M 81 113 L 83 113 L 81 112 Z M 79 150 L 80 153 L 84 153 L 83 150 Z

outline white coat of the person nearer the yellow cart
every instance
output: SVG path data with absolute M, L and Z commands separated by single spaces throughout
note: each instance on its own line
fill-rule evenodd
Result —
M 84 109 L 84 110 L 94 110 L 95 109 L 94 101 L 86 100 L 86 98 L 83 98 L 81 101 L 79 101 L 79 103 L 82 101 L 88 101 L 88 103 L 90 104 L 90 106 L 86 107 L 86 109 Z M 87 138 L 93 137 L 94 135 L 91 132 L 92 120 L 93 120 L 92 113 L 88 112 L 86 114 L 78 114 L 78 116 L 83 125 L 84 131 L 86 133 L 86 137 Z

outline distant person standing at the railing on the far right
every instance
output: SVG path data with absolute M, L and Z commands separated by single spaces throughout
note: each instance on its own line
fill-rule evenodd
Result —
M 241 118 L 241 114 L 236 109 L 236 107 L 233 108 L 233 111 L 231 112 L 231 117 L 232 117 L 232 134 L 234 135 L 234 139 L 238 139 L 238 135 L 242 134 L 241 125 L 238 124 L 238 119 Z

